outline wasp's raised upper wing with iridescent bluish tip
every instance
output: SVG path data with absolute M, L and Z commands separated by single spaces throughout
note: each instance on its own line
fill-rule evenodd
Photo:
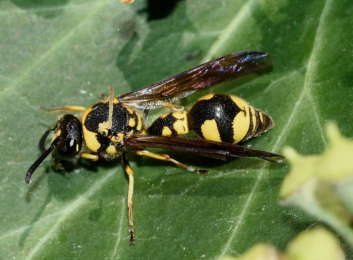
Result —
M 197 89 L 212 86 L 269 67 L 265 52 L 240 51 L 210 60 L 144 88 L 122 94 L 118 99 L 141 109 L 155 109 L 186 97 Z

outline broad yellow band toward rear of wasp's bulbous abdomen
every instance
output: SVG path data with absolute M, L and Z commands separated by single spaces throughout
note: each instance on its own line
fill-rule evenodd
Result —
M 249 116 L 249 105 L 245 100 L 235 97 L 233 95 L 229 95 L 232 98 L 233 102 L 238 105 L 238 107 L 242 110 L 237 116 L 234 117 L 233 120 L 233 139 L 234 144 L 239 143 L 247 134 L 250 126 L 250 116 Z

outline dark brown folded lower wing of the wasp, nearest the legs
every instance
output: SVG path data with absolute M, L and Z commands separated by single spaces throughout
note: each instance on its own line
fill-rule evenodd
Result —
M 280 154 L 201 138 L 136 135 L 128 137 L 124 144 L 136 148 L 150 147 L 188 151 L 223 160 L 225 157 L 259 157 L 271 162 L 282 162 L 285 159 Z

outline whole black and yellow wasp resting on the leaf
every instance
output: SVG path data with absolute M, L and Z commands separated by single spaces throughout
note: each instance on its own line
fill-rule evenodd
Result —
M 271 57 L 264 52 L 235 52 L 118 97 L 114 97 L 114 89 L 110 86 L 109 98 L 89 108 L 63 106 L 52 109 L 50 111 L 82 111 L 82 114 L 80 118 L 65 114 L 46 131 L 40 141 L 41 150 L 45 150 L 44 142 L 50 131 L 55 132 L 52 143 L 29 168 L 25 181 L 30 182 L 35 169 L 52 151 L 56 169 L 62 168 L 60 160 L 83 157 L 96 161 L 99 157 L 110 160 L 121 156 L 129 177 L 127 206 L 130 244 L 134 244 L 133 172 L 125 155 L 127 149 L 136 150 L 137 155 L 173 162 L 197 173 L 208 171 L 187 167 L 168 155 L 151 153 L 143 148 L 188 151 L 222 160 L 227 156 L 259 157 L 271 162 L 283 160 L 279 154 L 237 145 L 274 126 L 268 114 L 253 108 L 243 99 L 233 95 L 208 94 L 187 111 L 172 104 L 197 89 L 239 78 L 269 67 L 271 63 Z M 173 112 L 163 114 L 146 127 L 148 110 L 163 106 Z M 190 130 L 200 138 L 181 137 Z

